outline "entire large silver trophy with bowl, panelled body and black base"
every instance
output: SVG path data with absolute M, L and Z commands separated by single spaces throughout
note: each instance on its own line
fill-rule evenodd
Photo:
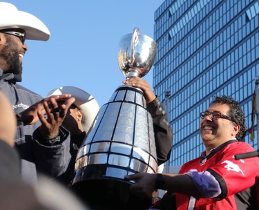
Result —
M 155 41 L 135 28 L 119 42 L 119 69 L 126 78 L 144 77 L 156 52 Z M 119 86 L 100 108 L 79 149 L 71 188 L 93 209 L 148 209 L 151 199 L 131 194 L 132 182 L 124 177 L 156 171 L 153 120 L 142 90 Z

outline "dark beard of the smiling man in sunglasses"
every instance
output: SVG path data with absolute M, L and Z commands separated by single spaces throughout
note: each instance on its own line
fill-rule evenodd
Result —
M 21 75 L 22 66 L 19 62 L 19 51 L 12 46 L 10 38 L 6 39 L 6 46 L 0 53 L 1 59 L 6 60 L 6 69 L 3 69 L 4 73 L 13 73 L 14 75 Z

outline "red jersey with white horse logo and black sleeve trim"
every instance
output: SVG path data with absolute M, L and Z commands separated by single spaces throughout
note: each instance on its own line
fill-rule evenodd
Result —
M 209 171 L 220 183 L 218 198 L 195 198 L 175 193 L 178 210 L 259 209 L 256 208 L 256 184 L 259 178 L 259 158 L 235 160 L 234 155 L 254 151 L 250 144 L 231 140 L 211 151 L 206 159 L 186 162 L 179 173 L 191 169 Z M 257 180 L 257 181 L 256 181 Z M 257 195 L 258 196 L 258 195 Z

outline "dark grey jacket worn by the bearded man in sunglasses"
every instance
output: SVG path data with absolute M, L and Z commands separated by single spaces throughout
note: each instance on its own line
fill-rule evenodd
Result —
M 0 89 L 10 100 L 15 114 L 26 110 L 32 104 L 39 102 L 41 96 L 31 90 L 16 84 L 19 79 L 13 74 L 3 74 L 0 69 Z M 41 123 L 32 125 L 17 125 L 15 146 L 21 158 L 21 176 L 28 182 L 37 182 L 37 173 L 41 171 L 50 177 L 56 177 L 66 171 L 70 160 L 69 144 L 62 142 L 56 146 L 45 146 L 32 140 L 32 133 Z

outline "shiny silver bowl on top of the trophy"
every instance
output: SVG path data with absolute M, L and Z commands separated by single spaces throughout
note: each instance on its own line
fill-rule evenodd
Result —
M 119 69 L 125 77 L 144 77 L 153 66 L 157 44 L 151 37 L 142 35 L 138 28 L 119 41 Z

